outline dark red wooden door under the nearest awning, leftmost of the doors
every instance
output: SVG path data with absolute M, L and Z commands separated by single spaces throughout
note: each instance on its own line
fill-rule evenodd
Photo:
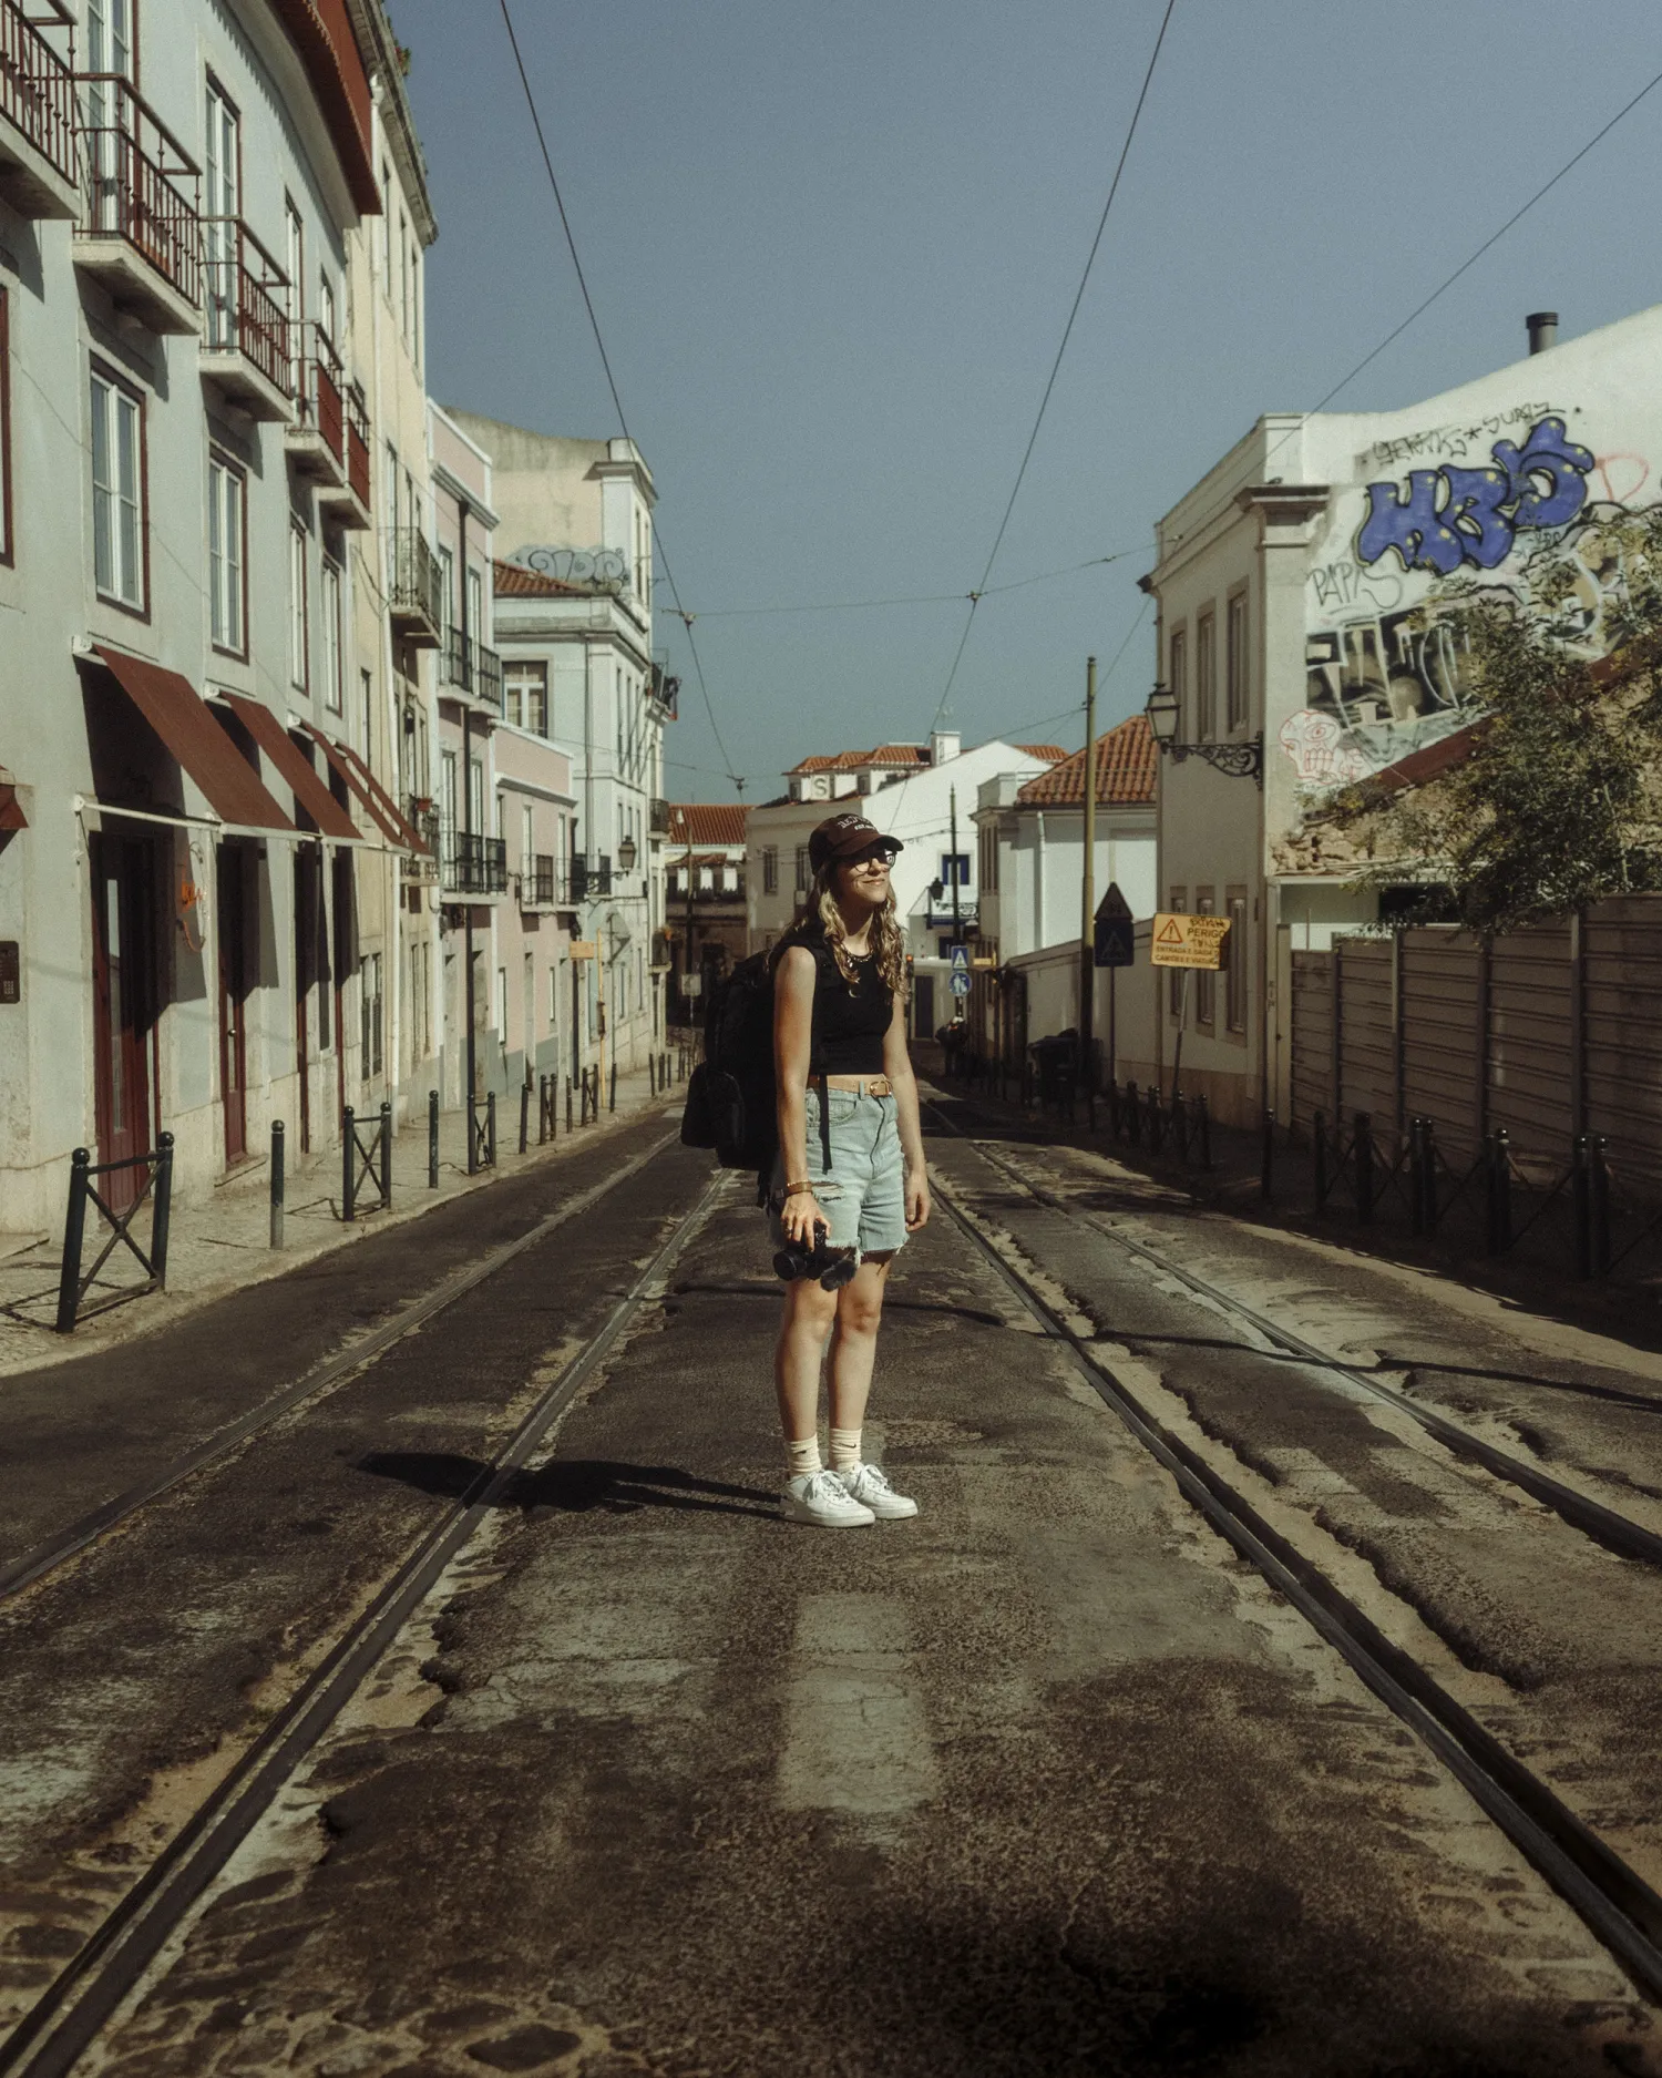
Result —
M 89 842 L 93 904 L 93 1116 L 98 1160 L 150 1153 L 150 1035 L 156 1022 L 156 858 L 143 837 L 98 833 Z M 139 1195 L 141 1170 L 104 1180 L 123 1211 Z

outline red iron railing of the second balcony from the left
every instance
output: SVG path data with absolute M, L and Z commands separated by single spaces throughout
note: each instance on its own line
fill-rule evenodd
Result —
M 83 89 L 83 237 L 125 239 L 162 281 L 199 308 L 197 162 L 120 73 L 79 73 L 77 83 Z

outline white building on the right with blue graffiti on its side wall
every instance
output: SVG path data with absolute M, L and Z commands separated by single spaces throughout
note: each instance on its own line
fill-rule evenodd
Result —
M 1182 744 L 1251 756 L 1263 785 L 1165 758 L 1161 906 L 1234 921 L 1240 958 L 1197 987 L 1184 1085 L 1219 1118 L 1288 1112 L 1290 954 L 1375 921 L 1323 804 L 1473 721 L 1463 571 L 1529 611 L 1569 555 L 1587 655 L 1620 588 L 1608 522 L 1654 505 L 1662 468 L 1662 305 L 1548 345 L 1400 411 L 1267 416 L 1159 522 L 1145 580 Z M 1448 752 L 1444 752 L 1448 754 Z M 1411 767 L 1413 769 L 1413 767 Z M 1151 1049 L 1170 1060 L 1178 991 Z

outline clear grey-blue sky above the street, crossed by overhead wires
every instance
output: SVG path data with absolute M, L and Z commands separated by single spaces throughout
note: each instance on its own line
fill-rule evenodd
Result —
M 497 0 L 391 0 L 438 243 L 430 384 L 617 430 Z M 513 0 L 629 430 L 746 798 L 920 738 L 987 561 L 1163 0 Z M 966 742 L 1143 704 L 1155 517 L 1265 409 L 1311 407 L 1645 79 L 1656 0 L 1176 0 L 993 584 Z M 1411 403 L 1662 299 L 1662 87 L 1338 399 Z M 513 547 L 513 544 L 505 544 Z M 667 785 L 729 800 L 688 644 Z

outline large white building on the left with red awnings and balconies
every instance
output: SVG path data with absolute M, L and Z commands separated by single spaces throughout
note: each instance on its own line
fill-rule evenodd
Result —
M 0 25 L 0 1228 L 50 1230 L 77 1145 L 168 1133 L 202 1195 L 395 1087 L 413 833 L 357 542 L 401 91 L 378 0 Z

